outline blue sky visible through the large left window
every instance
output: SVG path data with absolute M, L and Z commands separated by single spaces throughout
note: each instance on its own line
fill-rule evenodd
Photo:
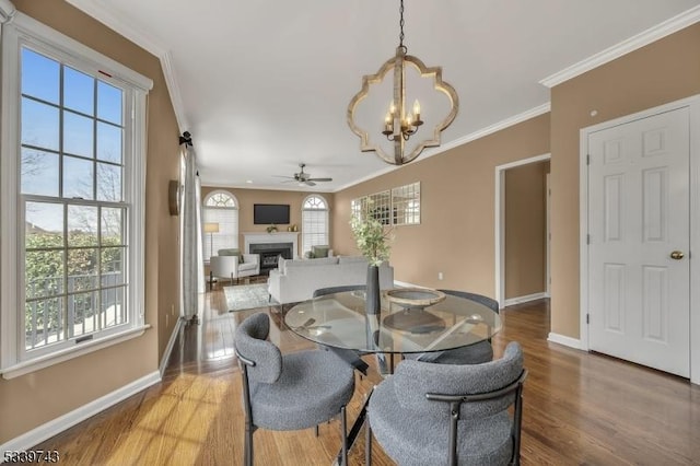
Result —
M 21 193 L 122 201 L 124 92 L 26 47 L 21 60 Z M 32 202 L 26 221 L 62 231 L 62 205 Z

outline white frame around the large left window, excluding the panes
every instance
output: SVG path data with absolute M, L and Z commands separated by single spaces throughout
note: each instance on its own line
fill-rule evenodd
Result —
M 109 75 L 101 80 L 125 91 L 124 198 L 127 207 L 127 306 L 129 324 L 94 334 L 92 340 L 69 340 L 27 352 L 23 346 L 24 322 L 24 211 L 20 209 L 20 112 L 21 46 L 58 58 L 79 70 L 94 69 Z M 70 37 L 18 12 L 2 25 L 2 108 L 0 161 L 0 372 L 13 378 L 39 369 L 136 338 L 149 328 L 144 317 L 144 225 L 145 225 L 145 121 L 147 95 L 153 82 L 71 39 Z M 9 156 L 14 154 L 14 156 Z

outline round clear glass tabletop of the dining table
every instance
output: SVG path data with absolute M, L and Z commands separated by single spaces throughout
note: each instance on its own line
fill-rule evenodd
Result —
M 381 312 L 365 314 L 364 291 L 328 294 L 296 304 L 284 315 L 295 334 L 316 343 L 361 352 L 419 353 L 483 341 L 501 329 L 489 306 L 447 294 L 411 306 L 382 293 Z

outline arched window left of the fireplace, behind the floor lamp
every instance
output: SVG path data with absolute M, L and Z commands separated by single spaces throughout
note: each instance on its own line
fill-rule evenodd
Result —
M 203 203 L 205 257 L 215 256 L 219 249 L 238 247 L 238 201 L 235 196 L 225 190 L 215 190 L 207 195 Z M 207 226 L 213 224 L 218 228 L 207 233 Z

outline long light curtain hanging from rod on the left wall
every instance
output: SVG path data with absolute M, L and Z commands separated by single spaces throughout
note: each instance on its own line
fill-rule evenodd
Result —
M 191 319 L 197 316 L 199 294 L 205 290 L 205 266 L 202 254 L 201 187 L 197 172 L 197 155 L 191 143 L 182 145 L 185 159 L 185 177 L 182 196 L 180 242 L 182 305 L 180 316 Z

